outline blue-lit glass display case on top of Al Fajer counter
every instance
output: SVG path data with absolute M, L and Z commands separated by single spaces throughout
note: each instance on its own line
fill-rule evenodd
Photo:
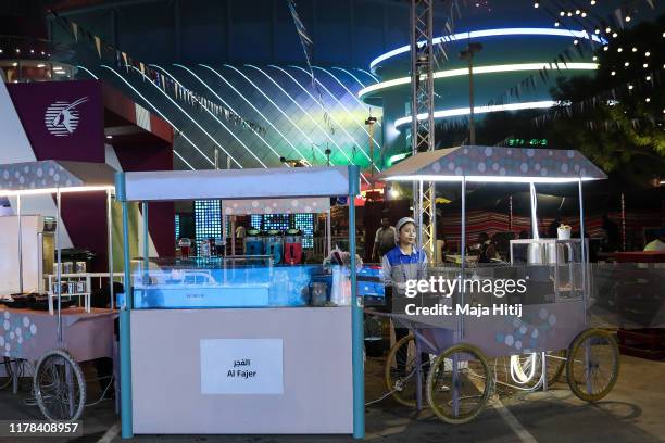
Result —
M 275 265 L 271 255 L 151 258 L 131 265 L 137 309 L 343 306 L 351 298 L 348 268 Z

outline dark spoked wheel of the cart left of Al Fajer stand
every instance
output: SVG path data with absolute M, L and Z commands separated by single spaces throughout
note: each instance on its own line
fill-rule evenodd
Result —
M 33 382 L 41 414 L 50 421 L 76 421 L 86 404 L 80 366 L 64 350 L 51 350 L 37 363 Z

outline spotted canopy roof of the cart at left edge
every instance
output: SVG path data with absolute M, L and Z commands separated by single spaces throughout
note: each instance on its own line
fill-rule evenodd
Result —
M 0 165 L 0 191 L 50 191 L 67 188 L 113 189 L 115 169 L 104 163 L 38 162 Z

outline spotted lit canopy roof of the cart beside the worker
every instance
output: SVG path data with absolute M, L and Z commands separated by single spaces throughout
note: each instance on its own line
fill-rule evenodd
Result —
M 388 180 L 557 181 L 607 176 L 576 150 L 457 147 L 421 152 L 380 176 Z

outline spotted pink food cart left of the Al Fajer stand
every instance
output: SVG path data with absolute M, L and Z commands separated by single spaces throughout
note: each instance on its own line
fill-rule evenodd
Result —
M 14 392 L 18 366 L 34 367 L 34 394 L 45 417 L 52 421 L 73 421 L 80 417 L 86 403 L 86 383 L 80 362 L 113 357 L 113 295 L 110 309 L 70 307 L 63 311 L 61 266 L 61 195 L 63 193 L 105 192 L 108 211 L 109 279 L 113 281 L 111 199 L 115 170 L 105 164 L 38 161 L 0 165 L 0 195 L 15 198 L 17 220 L 16 291 L 0 307 L 0 343 L 3 345 L 5 370 L 13 376 Z M 47 312 L 50 298 L 24 302 L 24 235 L 22 199 L 29 195 L 55 194 L 55 295 L 58 309 Z M 35 276 L 30 276 L 35 280 Z M 37 276 L 37 280 L 43 279 Z M 112 284 L 111 284 L 112 287 Z M 35 290 L 32 288 L 30 290 Z M 51 288 L 49 288 L 49 291 Z M 23 306 L 21 303 L 27 303 Z M 34 311 L 32 304 L 43 309 Z M 12 307 L 13 306 L 13 307 Z M 21 306 L 21 307 L 18 307 Z

